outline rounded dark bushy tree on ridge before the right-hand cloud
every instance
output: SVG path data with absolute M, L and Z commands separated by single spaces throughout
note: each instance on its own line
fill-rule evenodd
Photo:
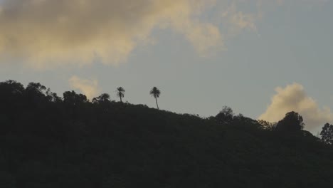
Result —
M 304 128 L 303 117 L 294 111 L 287 113 L 285 117 L 277 122 L 276 130 L 279 131 L 298 131 Z

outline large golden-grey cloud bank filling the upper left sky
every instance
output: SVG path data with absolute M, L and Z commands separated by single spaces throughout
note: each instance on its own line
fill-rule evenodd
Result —
M 0 58 L 18 58 L 37 68 L 98 58 L 127 60 L 151 41 L 154 28 L 181 33 L 199 55 L 223 46 L 216 24 L 201 21 L 215 0 L 2 0 Z

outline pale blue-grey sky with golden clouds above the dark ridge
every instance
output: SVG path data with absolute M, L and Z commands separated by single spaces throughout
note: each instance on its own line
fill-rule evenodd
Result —
M 0 81 L 277 122 L 333 123 L 332 0 L 0 0 Z

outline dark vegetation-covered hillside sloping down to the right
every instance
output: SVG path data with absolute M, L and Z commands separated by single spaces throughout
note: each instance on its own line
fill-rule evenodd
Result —
M 302 126 L 293 112 L 276 125 L 230 108 L 201 118 L 9 80 L 0 187 L 332 187 L 333 148 Z

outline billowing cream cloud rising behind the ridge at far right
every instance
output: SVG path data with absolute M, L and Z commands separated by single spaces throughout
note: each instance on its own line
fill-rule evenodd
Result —
M 325 122 L 332 122 L 333 114 L 329 108 L 319 108 L 317 102 L 310 98 L 302 85 L 293 83 L 285 88 L 276 88 L 270 105 L 258 119 L 277 122 L 290 111 L 302 115 L 305 129 L 314 131 L 322 127 Z

